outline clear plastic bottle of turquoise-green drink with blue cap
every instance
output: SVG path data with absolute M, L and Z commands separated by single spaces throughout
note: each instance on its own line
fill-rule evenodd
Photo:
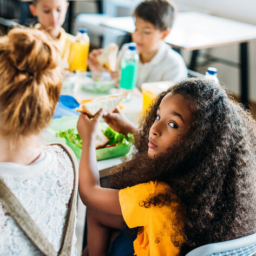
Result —
M 128 49 L 124 52 L 121 61 L 120 88 L 126 91 L 127 98 L 130 97 L 130 93 L 135 88 L 137 82 L 139 55 L 137 54 L 136 49 L 136 44 L 129 45 Z

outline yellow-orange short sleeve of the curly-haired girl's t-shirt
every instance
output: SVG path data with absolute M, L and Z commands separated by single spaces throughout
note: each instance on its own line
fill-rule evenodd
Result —
M 141 206 L 154 193 L 154 182 L 142 183 L 119 191 L 119 202 L 123 219 L 129 228 L 147 226 L 152 207 Z

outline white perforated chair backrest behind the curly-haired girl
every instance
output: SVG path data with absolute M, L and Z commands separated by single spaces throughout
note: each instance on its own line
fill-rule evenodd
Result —
M 251 256 L 256 252 L 256 234 L 225 242 L 203 245 L 186 256 Z

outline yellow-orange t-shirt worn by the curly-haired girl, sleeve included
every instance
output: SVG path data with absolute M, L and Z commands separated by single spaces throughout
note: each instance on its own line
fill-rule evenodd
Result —
M 180 247 L 175 247 L 171 241 L 172 235 L 179 245 L 183 242 L 179 227 L 172 228 L 172 218 L 175 216 L 176 203 L 168 206 L 141 206 L 149 196 L 163 192 L 169 186 L 164 182 L 150 181 L 133 187 L 121 189 L 119 201 L 123 219 L 129 228 L 142 227 L 134 240 L 134 251 L 137 256 L 175 256 Z

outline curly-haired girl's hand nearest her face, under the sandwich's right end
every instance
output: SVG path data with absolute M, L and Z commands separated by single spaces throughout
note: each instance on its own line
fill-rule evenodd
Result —
M 103 117 L 116 132 L 124 135 L 127 135 L 127 133 L 138 133 L 138 129 L 127 119 L 118 106 L 113 113 L 104 113 Z

